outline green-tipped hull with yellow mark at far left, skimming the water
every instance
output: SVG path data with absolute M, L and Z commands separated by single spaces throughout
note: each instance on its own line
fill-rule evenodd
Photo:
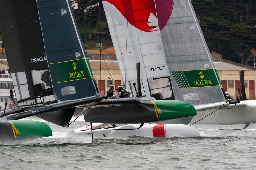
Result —
M 51 128 L 44 122 L 10 120 L 0 123 L 0 143 L 52 136 Z

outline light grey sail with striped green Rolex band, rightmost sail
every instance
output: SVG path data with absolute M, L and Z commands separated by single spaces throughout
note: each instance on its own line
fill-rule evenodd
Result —
M 166 0 L 165 0 L 166 1 Z M 190 0 L 174 0 L 166 9 L 156 0 L 158 21 L 167 19 L 160 31 L 175 99 L 193 105 L 224 101 L 221 82 Z

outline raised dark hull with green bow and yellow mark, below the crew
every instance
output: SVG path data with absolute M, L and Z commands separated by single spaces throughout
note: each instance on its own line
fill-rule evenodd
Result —
M 193 105 L 177 100 L 152 100 L 146 97 L 108 99 L 102 100 L 99 105 L 101 107 L 86 110 L 84 113 L 86 122 L 130 124 L 197 115 Z

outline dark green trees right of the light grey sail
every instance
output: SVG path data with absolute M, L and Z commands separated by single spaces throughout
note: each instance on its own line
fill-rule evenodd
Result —
M 192 0 L 192 4 L 209 50 L 248 65 L 256 47 L 255 0 Z

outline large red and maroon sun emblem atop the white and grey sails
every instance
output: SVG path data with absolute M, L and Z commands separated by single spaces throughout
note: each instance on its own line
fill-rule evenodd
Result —
M 162 30 L 171 14 L 174 0 L 103 0 L 114 5 L 137 29 Z

